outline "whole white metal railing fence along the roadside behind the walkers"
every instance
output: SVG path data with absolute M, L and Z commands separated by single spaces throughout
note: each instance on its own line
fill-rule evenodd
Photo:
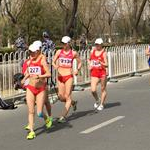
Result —
M 147 44 L 143 45 L 126 45 L 106 48 L 108 52 L 108 72 L 109 78 L 137 73 L 149 69 L 145 49 Z M 79 51 L 82 60 L 82 68 L 77 77 L 74 77 L 74 84 L 90 82 L 90 72 L 87 60 L 90 56 L 90 49 Z M 47 60 L 51 63 L 56 51 L 48 53 Z M 13 87 L 13 75 L 21 72 L 22 62 L 27 59 L 28 52 L 15 52 L 10 54 L 0 54 L 0 95 L 3 98 L 11 97 L 22 93 L 15 91 Z M 76 68 L 76 61 L 74 61 Z M 52 79 L 56 82 L 56 71 L 50 67 Z

